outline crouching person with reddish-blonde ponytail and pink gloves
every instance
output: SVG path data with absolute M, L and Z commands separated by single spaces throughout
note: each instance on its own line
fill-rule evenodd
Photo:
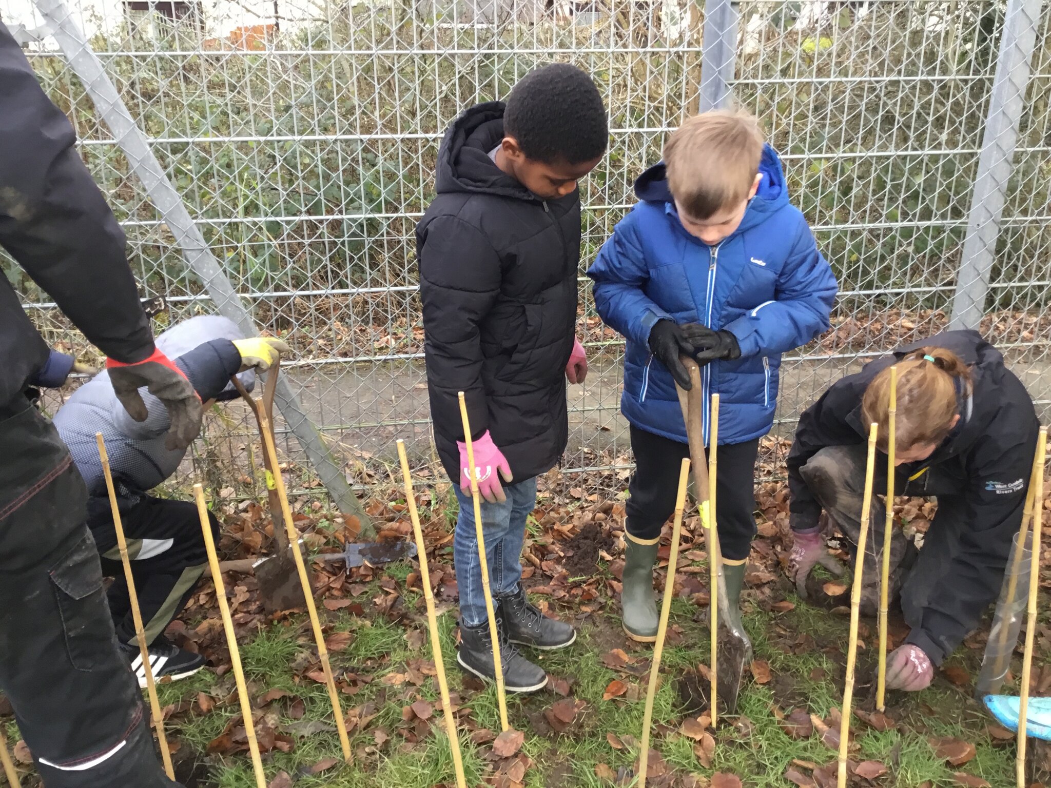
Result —
M 937 498 L 915 545 L 893 532 L 889 594 L 901 595 L 911 631 L 887 661 L 887 687 L 918 690 L 996 599 L 1022 524 L 1038 426 L 1032 399 L 1004 357 L 974 331 L 949 331 L 906 345 L 836 382 L 800 418 L 788 455 L 789 557 L 800 596 L 818 563 L 839 574 L 819 520 L 857 543 L 869 424 L 887 447 L 890 367 L 898 367 L 894 490 Z M 877 457 L 862 613 L 879 607 L 886 454 Z M 874 535 L 875 538 L 872 538 Z

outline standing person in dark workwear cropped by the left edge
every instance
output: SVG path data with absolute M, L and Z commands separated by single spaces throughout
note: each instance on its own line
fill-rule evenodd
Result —
M 201 401 L 153 346 L 124 233 L 0 24 L 0 246 L 108 356 L 133 418 L 139 389 L 167 409 L 170 445 L 197 436 Z M 26 396 L 47 346 L 0 276 L 0 689 L 47 788 L 170 786 L 121 657 L 87 492 L 58 431 Z

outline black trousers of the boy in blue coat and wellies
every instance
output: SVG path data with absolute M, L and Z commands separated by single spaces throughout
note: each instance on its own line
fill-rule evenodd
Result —
M 679 469 L 689 447 L 632 426 L 635 474 L 627 486 L 627 533 L 656 539 L 675 511 Z M 719 447 L 716 475 L 716 523 L 722 557 L 740 562 L 748 557 L 756 535 L 756 456 L 759 439 Z M 691 474 L 693 476 L 693 474 Z

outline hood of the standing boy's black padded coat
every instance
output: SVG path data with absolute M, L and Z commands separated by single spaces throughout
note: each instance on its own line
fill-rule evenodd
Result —
M 503 139 L 503 102 L 466 110 L 446 131 L 438 149 L 435 187 L 439 194 L 495 194 L 536 202 L 529 189 L 501 170 L 489 151 Z

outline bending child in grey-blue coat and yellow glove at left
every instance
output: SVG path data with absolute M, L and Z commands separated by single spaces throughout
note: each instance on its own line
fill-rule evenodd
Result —
M 266 371 L 288 346 L 269 337 L 245 338 L 236 324 L 218 315 L 191 317 L 157 337 L 157 347 L 182 370 L 207 405 L 240 397 L 230 376 L 240 373 L 247 389 L 255 382 L 254 369 Z M 50 368 L 71 367 L 69 356 L 53 352 Z M 204 536 L 193 501 L 170 500 L 149 491 L 171 477 L 185 450 L 168 449 L 168 414 L 156 397 L 144 397 L 149 413 L 135 421 L 120 407 L 107 372 L 101 372 L 75 391 L 58 413 L 55 426 L 73 453 L 87 483 L 87 526 L 102 557 L 102 568 L 114 578 L 107 597 L 121 650 L 135 670 L 139 686 L 146 671 L 139 651 L 128 589 L 117 547 L 112 510 L 102 475 L 96 433 L 106 441 L 121 522 L 128 539 L 131 574 L 139 593 L 154 678 L 171 681 L 192 676 L 205 660 L 181 649 L 164 629 L 186 605 L 208 563 Z M 215 539 L 219 521 L 209 513 Z

